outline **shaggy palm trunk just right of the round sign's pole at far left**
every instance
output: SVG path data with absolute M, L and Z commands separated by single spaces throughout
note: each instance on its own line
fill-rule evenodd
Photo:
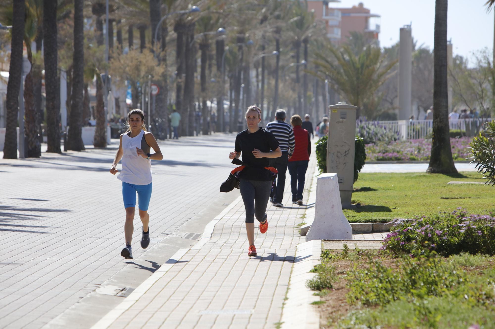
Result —
M 31 71 L 26 76 L 24 82 L 24 117 L 25 117 L 25 134 L 27 137 L 27 145 L 25 146 L 28 151 L 29 158 L 39 158 L 41 156 L 41 143 L 38 139 L 38 129 L 36 126 L 36 102 L 34 99 L 34 87 L 35 76 L 39 69 L 33 65 L 33 53 L 31 52 L 31 45 L 26 45 L 28 54 L 28 60 L 31 62 Z M 39 75 L 39 74 L 38 74 Z

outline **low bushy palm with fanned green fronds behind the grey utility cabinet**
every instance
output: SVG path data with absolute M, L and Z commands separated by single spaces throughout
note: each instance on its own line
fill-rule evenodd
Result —
M 359 117 L 363 105 L 375 97 L 375 92 L 389 78 L 388 72 L 396 61 L 385 63 L 380 48 L 373 46 L 367 46 L 356 56 L 347 45 L 337 50 L 330 41 L 326 42 L 323 52 L 315 52 L 317 59 L 313 63 L 317 71 L 307 72 L 322 81 L 329 78 L 334 89 L 357 106 Z

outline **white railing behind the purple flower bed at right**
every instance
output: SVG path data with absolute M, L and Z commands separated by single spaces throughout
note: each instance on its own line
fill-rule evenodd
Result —
M 449 120 L 449 128 L 460 130 L 463 136 L 474 136 L 485 128 L 492 119 L 453 119 Z M 397 121 L 356 121 L 356 128 L 360 124 L 374 125 L 397 134 L 399 139 L 431 138 L 433 134 L 433 120 L 397 120 Z

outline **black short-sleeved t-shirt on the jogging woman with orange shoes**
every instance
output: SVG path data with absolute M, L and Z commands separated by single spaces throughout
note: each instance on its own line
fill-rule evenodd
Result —
M 252 154 L 254 149 L 261 152 L 275 151 L 279 144 L 273 134 L 263 128 L 258 131 L 248 133 L 248 129 L 241 131 L 236 136 L 236 152 L 242 151 L 242 162 L 246 164 L 246 168 L 241 171 L 239 177 L 251 180 L 271 180 L 272 176 L 268 167 L 269 158 L 255 158 Z

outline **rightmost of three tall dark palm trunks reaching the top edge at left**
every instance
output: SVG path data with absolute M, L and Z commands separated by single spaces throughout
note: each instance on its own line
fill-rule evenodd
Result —
M 83 0 L 74 0 L 74 54 L 72 67 L 72 102 L 70 106 L 69 134 L 67 150 L 82 151 L 81 138 L 83 125 L 84 95 L 84 17 Z

